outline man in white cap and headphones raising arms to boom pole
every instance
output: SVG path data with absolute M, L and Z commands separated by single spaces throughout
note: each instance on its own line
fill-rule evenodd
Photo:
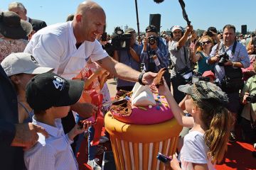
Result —
M 191 34 L 191 36 L 189 36 Z M 194 39 L 196 33 L 193 26 L 187 26 L 186 31 L 181 26 L 173 26 L 171 28 L 171 44 L 169 44 L 169 52 L 171 62 L 174 66 L 171 69 L 171 85 L 174 89 L 174 98 L 177 103 L 185 97 L 181 91 L 178 91 L 178 86 L 186 84 L 186 80 L 181 74 L 191 71 L 191 60 L 188 52 L 188 47 Z

